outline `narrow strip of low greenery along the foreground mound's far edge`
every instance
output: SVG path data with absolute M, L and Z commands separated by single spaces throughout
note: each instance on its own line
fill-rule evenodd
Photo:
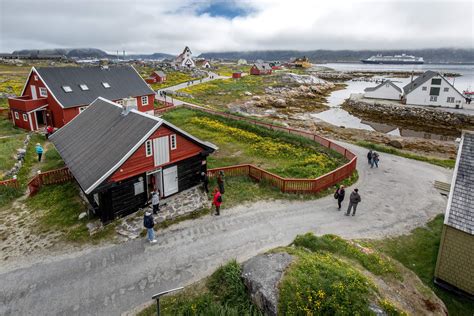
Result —
M 313 252 L 327 251 L 358 261 L 364 268 L 376 275 L 395 275 L 398 272 L 389 259 L 384 259 L 379 253 L 362 251 L 361 248 L 335 235 L 315 236 L 312 233 L 298 235 L 293 242 L 297 247 L 303 247 Z

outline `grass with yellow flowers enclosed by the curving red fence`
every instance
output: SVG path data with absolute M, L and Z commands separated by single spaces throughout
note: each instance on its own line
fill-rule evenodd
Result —
M 247 122 L 188 109 L 170 111 L 163 118 L 219 147 L 208 158 L 209 168 L 250 163 L 282 177 L 316 178 L 346 162 L 340 154 L 304 137 Z

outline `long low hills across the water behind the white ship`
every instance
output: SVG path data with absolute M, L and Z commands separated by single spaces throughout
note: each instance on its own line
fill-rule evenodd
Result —
M 199 57 L 206 59 L 246 59 L 255 61 L 263 59 L 266 61 L 279 60 L 289 61 L 296 57 L 306 56 L 313 63 L 327 62 L 358 62 L 361 59 L 373 55 L 415 55 L 423 57 L 427 63 L 474 63 L 474 49 L 419 49 L 419 50 L 263 50 L 263 51 L 238 51 L 238 52 L 208 52 Z

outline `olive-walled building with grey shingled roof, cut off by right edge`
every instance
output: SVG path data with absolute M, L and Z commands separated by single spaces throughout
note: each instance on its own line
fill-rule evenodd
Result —
M 464 131 L 444 217 L 435 283 L 474 297 L 474 131 Z

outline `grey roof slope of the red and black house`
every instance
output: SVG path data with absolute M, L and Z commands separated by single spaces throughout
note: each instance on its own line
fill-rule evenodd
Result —
M 121 113 L 120 106 L 97 99 L 50 137 L 86 192 L 161 123 L 134 111 Z

